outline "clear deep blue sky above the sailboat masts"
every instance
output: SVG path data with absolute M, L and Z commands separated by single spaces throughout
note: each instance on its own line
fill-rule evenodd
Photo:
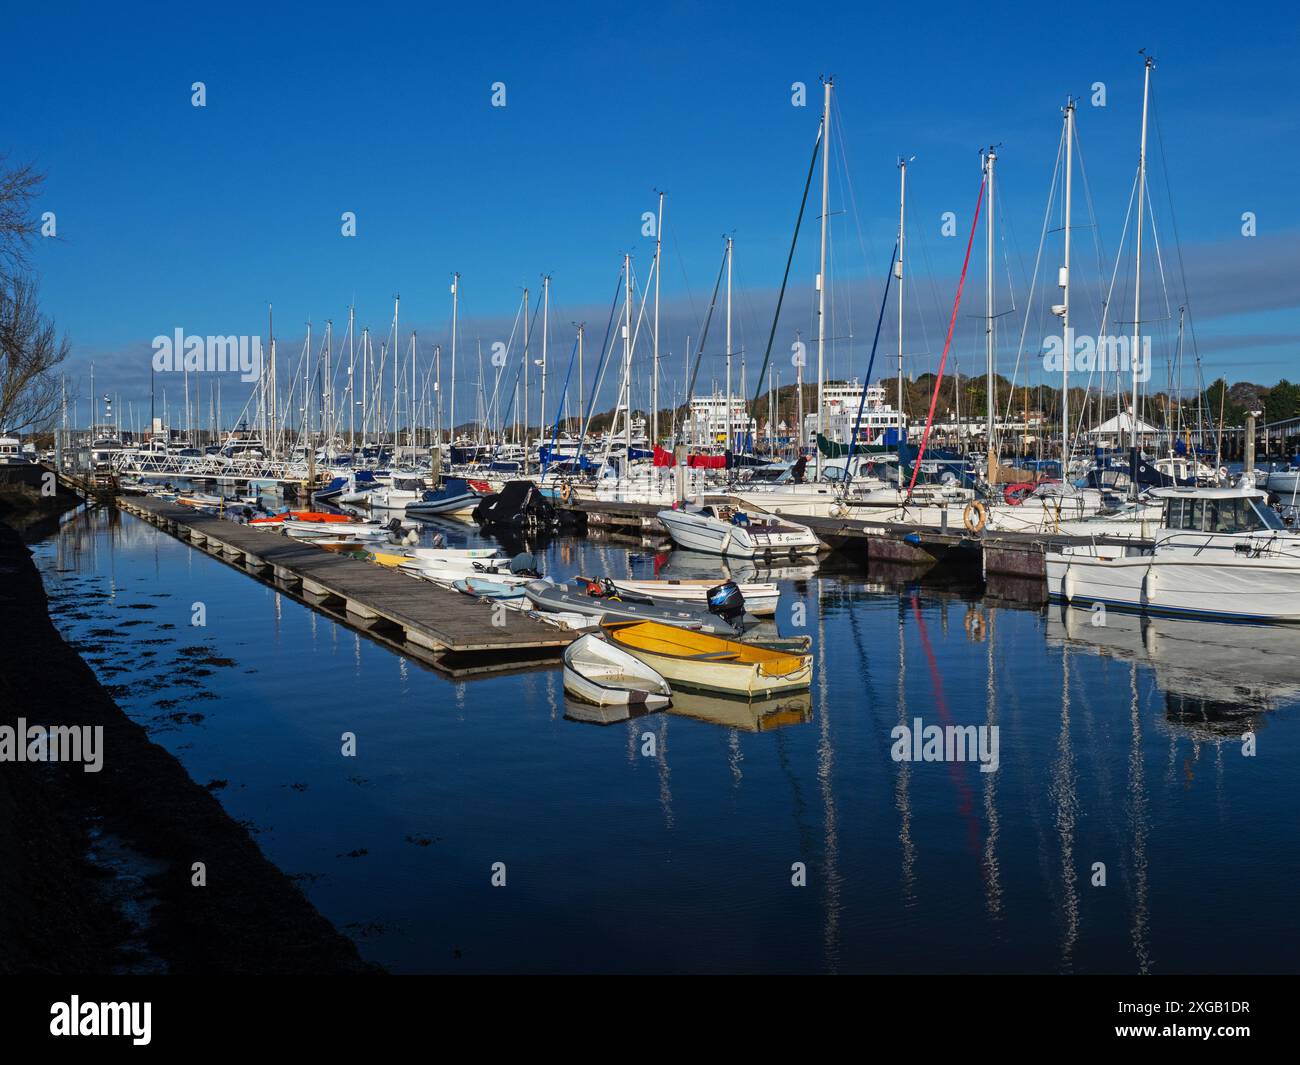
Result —
M 333 317 L 338 330 L 352 300 L 359 324 L 382 334 L 400 293 L 402 332 L 420 330 L 424 352 L 446 342 L 452 270 L 463 276 L 468 346 L 508 330 L 520 289 L 536 291 L 551 273 L 555 345 L 567 355 L 573 319 L 603 332 L 624 251 L 646 276 L 653 242 L 641 215 L 656 187 L 668 194 L 666 351 L 680 359 L 685 335 L 698 333 L 732 233 L 740 343 L 757 365 L 816 130 L 818 78 L 832 73 L 842 121 L 832 133 L 832 278 L 844 286 L 832 290 L 835 369 L 861 373 L 864 363 L 897 220 L 898 153 L 916 156 L 909 347 L 924 369 L 946 326 L 988 143 L 1001 144 L 1009 225 L 1000 256 L 1023 313 L 1067 94 L 1082 98 L 1097 221 L 1076 235 L 1091 264 L 1080 260 L 1078 283 L 1112 269 L 1136 165 L 1145 47 L 1158 60 L 1161 143 L 1153 130 L 1149 181 L 1169 306 L 1183 298 L 1171 194 L 1206 373 L 1294 378 L 1296 16 L 1216 10 L 29 8 L 6 16 L 6 36 L 26 44 L 0 68 L 0 151 L 48 174 L 39 209 L 56 213 L 60 239 L 35 254 L 44 306 L 74 342 L 70 375 L 94 359 L 113 389 L 140 388 L 153 335 L 260 333 L 268 300 L 281 351 L 296 354 L 308 320 L 318 329 Z M 195 81 L 207 86 L 204 108 L 191 105 Z M 797 81 L 809 87 L 806 108 L 792 107 Z M 506 85 L 504 108 L 490 105 L 494 82 Z M 1106 86 L 1104 108 L 1089 101 L 1096 82 Z M 344 211 L 356 212 L 355 238 L 339 233 Z M 940 237 L 944 211 L 958 217 L 956 239 Z M 1247 211 L 1254 238 L 1240 233 Z M 1079 199 L 1075 212 L 1082 226 Z M 788 334 L 810 326 L 814 216 L 815 204 L 779 333 L 786 350 Z M 1045 252 L 1053 274 L 1054 247 Z M 1156 276 L 1144 276 L 1150 290 Z M 1006 276 L 1001 290 L 1009 311 Z M 972 273 L 967 299 L 954 352 L 972 372 L 982 276 Z M 1010 372 L 1019 325 L 1015 315 L 1004 322 L 1000 368 Z M 718 367 L 711 358 L 705 378 Z

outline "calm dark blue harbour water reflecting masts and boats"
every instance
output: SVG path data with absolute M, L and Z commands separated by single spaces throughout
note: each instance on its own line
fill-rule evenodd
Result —
M 36 557 L 122 707 L 394 971 L 1297 967 L 1295 631 L 1098 625 L 837 562 L 781 581 L 809 696 L 602 726 L 566 717 L 558 668 L 446 679 L 125 515 Z M 718 572 L 670 572 L 692 562 Z M 894 762 L 916 717 L 998 726 L 1000 769 Z

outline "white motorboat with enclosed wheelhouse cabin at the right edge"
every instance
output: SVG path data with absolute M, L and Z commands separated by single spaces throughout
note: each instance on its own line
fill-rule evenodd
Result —
M 1048 594 L 1150 614 L 1300 622 L 1300 532 L 1253 488 L 1161 488 L 1152 546 L 1082 544 L 1046 554 Z

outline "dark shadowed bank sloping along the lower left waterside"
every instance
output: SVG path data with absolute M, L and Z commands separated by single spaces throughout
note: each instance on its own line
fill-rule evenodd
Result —
M 31 555 L 3 523 L 0 633 L 0 727 L 103 727 L 99 772 L 0 761 L 0 973 L 374 971 L 118 709 L 55 629 Z M 130 875 L 105 850 L 126 854 L 116 863 Z M 195 862 L 205 887 L 191 883 Z

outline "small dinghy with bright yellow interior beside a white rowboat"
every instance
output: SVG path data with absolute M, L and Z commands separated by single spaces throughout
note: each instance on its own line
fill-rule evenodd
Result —
M 675 688 L 767 698 L 812 684 L 812 655 L 723 640 L 659 622 L 602 622 L 606 637 Z

